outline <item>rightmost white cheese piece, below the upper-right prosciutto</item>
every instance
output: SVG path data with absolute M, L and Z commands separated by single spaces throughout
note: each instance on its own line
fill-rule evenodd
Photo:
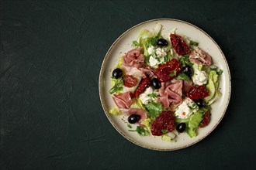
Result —
M 200 71 L 196 64 L 194 64 L 192 66 L 193 70 L 194 70 L 194 74 L 192 76 L 192 81 L 193 83 L 197 84 L 197 85 L 202 85 L 202 84 L 206 84 L 207 80 L 208 80 L 208 76 L 207 73 L 205 71 Z

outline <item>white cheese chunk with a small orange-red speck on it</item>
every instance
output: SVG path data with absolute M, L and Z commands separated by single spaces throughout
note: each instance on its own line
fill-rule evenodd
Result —
M 178 109 L 175 111 L 175 116 L 181 119 L 186 119 L 198 109 L 199 107 L 193 100 L 185 97 L 182 104 L 179 105 Z

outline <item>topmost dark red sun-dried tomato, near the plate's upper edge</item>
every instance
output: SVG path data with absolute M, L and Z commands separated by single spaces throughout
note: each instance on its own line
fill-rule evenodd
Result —
M 176 34 L 171 34 L 171 46 L 175 49 L 175 52 L 178 53 L 178 56 L 184 56 L 190 53 L 189 46 L 183 41 L 182 36 Z

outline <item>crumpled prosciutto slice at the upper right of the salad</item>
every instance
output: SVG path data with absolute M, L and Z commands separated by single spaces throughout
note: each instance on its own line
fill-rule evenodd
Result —
M 198 47 L 192 50 L 189 56 L 189 60 L 191 62 L 207 66 L 212 64 L 212 57 L 209 56 L 209 54 L 203 51 L 202 49 L 199 49 Z

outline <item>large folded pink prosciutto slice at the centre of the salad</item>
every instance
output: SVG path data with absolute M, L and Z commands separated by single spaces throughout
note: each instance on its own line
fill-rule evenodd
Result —
M 171 80 L 162 83 L 159 90 L 161 97 L 157 100 L 163 104 L 163 107 L 174 110 L 178 105 L 182 104 L 182 87 L 183 80 Z

